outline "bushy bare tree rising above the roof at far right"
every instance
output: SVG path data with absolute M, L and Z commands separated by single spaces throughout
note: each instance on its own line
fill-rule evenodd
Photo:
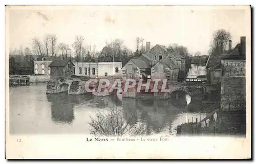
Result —
M 212 40 L 212 49 L 214 51 L 213 53 L 217 53 L 217 55 L 221 55 L 222 53 L 224 53 L 228 40 L 230 40 L 230 38 L 230 33 L 224 29 L 215 31 Z

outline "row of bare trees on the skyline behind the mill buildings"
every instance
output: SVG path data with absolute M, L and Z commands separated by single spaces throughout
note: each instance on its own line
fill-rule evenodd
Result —
M 15 74 L 18 69 L 26 68 L 33 71 L 33 61 L 38 57 L 46 57 L 53 59 L 68 59 L 74 62 L 111 62 L 119 61 L 125 65 L 131 58 L 139 57 L 145 53 L 143 46 L 144 39 L 137 37 L 136 51 L 133 52 L 124 45 L 122 39 L 114 39 L 106 42 L 104 48 L 100 52 L 96 52 L 96 45 L 86 44 L 86 38 L 83 36 L 75 36 L 73 44 L 60 42 L 57 43 L 57 36 L 54 34 L 46 34 L 42 39 L 34 37 L 32 39 L 32 50 L 27 47 L 25 51 L 21 48 L 14 52 L 10 52 L 10 74 Z M 225 43 L 225 42 L 224 42 Z M 216 39 L 215 49 L 224 45 Z M 169 44 L 167 51 L 176 53 L 185 58 L 186 72 L 191 67 L 193 55 L 188 53 L 188 49 L 183 45 Z

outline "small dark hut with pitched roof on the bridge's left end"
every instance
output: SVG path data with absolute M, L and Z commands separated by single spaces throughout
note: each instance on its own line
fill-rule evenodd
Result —
M 70 77 L 74 73 L 74 64 L 70 60 L 54 60 L 49 64 L 51 78 Z

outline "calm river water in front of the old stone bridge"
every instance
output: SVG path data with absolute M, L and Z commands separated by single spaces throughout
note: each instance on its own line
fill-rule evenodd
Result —
M 206 114 L 191 102 L 174 105 L 176 100 L 136 100 L 116 95 L 94 97 L 86 95 L 46 94 L 46 83 L 10 87 L 10 134 L 90 134 L 91 117 L 114 107 L 122 110 L 129 124 L 144 123 L 153 133 L 175 135 L 178 125 L 203 119 Z M 197 103 L 200 105 L 200 103 Z M 201 110 L 201 111 L 200 111 Z

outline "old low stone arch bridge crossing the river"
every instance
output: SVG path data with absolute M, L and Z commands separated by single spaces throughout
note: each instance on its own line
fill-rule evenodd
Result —
M 111 80 L 111 84 L 114 83 L 116 78 L 113 77 L 105 77 L 106 79 Z M 86 90 L 86 82 L 90 78 L 85 77 L 70 77 L 70 78 L 56 78 L 50 79 L 47 84 L 46 92 L 47 93 L 59 93 L 59 92 L 68 92 L 70 95 L 81 95 L 87 93 Z M 97 79 L 99 80 L 99 79 Z M 124 83 L 122 84 L 122 89 L 124 88 Z M 90 83 L 89 88 L 93 89 L 96 88 L 98 84 Z M 154 86 L 154 84 L 153 84 Z M 151 85 L 151 89 L 153 89 Z M 186 94 L 190 96 L 203 96 L 205 93 L 210 92 L 212 86 L 208 83 L 189 83 L 189 82 L 168 82 L 166 89 L 170 89 L 170 92 L 145 92 L 143 91 L 143 87 L 141 91 L 137 92 L 137 87 L 129 88 L 127 92 L 122 91 L 123 97 L 129 98 L 143 98 L 145 96 L 151 96 L 155 99 L 169 99 L 172 97 L 172 93 L 176 91 L 184 91 Z M 108 88 L 110 89 L 110 87 Z M 161 90 L 161 86 L 158 88 Z M 114 89 L 111 93 L 110 92 L 96 92 L 94 95 L 98 96 L 106 96 L 110 94 L 115 94 L 116 89 Z

